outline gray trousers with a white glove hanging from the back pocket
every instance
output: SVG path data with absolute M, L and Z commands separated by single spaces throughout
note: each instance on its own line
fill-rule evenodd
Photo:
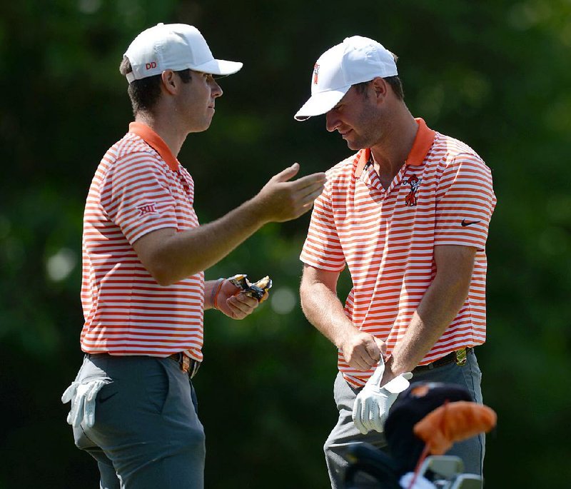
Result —
M 188 374 L 173 358 L 87 356 L 79 380 L 111 378 L 95 423 L 74 428 L 93 456 L 101 489 L 203 489 L 204 429 Z

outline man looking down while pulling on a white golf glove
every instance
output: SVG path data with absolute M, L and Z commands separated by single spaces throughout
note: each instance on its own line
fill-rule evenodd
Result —
M 320 114 L 356 151 L 327 172 L 301 253 L 303 311 L 338 348 L 339 418 L 325 458 L 343 488 L 346 448 L 386 447 L 384 422 L 411 377 L 463 385 L 482 402 L 474 349 L 485 341 L 495 196 L 472 148 L 410 114 L 395 56 L 373 39 L 347 38 L 315 63 L 295 119 Z M 343 306 L 345 266 L 353 288 Z M 481 474 L 483 435 L 451 454 Z

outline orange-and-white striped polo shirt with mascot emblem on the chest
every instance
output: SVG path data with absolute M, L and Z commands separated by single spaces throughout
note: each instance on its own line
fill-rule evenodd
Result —
M 433 281 L 434 246 L 475 246 L 468 298 L 423 365 L 485 341 L 485 243 L 496 198 L 490 169 L 472 148 L 417 123 L 413 148 L 386 190 L 367 164 L 368 149 L 330 168 L 300 259 L 325 271 L 348 266 L 345 314 L 390 353 Z M 338 366 L 355 386 L 374 370 L 350 368 L 340 352 Z

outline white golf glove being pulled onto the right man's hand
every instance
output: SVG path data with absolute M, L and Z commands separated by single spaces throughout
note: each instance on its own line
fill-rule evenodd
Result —
M 375 372 L 358 393 L 353 404 L 353 422 L 363 435 L 370 430 L 383 433 L 390 406 L 393 405 L 398 395 L 408 388 L 410 385 L 408 380 L 413 377 L 410 372 L 402 373 L 383 387 L 379 387 L 383 373 L 385 373 L 385 363 L 381 358 Z

